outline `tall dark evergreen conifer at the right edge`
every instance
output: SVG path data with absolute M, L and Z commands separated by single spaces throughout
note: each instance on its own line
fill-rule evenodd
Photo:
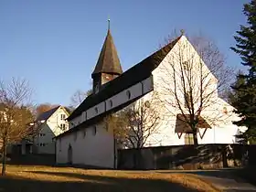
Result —
M 232 86 L 236 94 L 233 105 L 241 118 L 234 124 L 246 126 L 248 129 L 244 133 L 244 138 L 256 141 L 256 1 L 251 0 L 245 4 L 243 13 L 247 16 L 248 26 L 240 26 L 237 36 L 234 37 L 237 42 L 236 48 L 231 49 L 240 55 L 241 64 L 248 67 L 248 74 L 238 75 L 238 85 Z

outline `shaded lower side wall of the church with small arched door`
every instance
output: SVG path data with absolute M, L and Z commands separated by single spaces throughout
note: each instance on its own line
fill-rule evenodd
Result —
M 85 127 L 79 132 L 70 133 L 58 138 L 56 152 L 57 163 L 68 163 L 68 150 L 70 144 L 72 147 L 73 164 L 113 168 L 114 145 L 112 133 L 108 132 L 101 124 L 97 124 L 96 126 L 96 135 L 93 135 L 93 128 L 91 126 Z M 84 131 L 86 131 L 85 136 Z M 75 134 L 77 134 L 76 140 L 74 136 Z

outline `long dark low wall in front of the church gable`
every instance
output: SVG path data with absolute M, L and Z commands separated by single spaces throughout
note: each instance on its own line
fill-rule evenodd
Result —
M 256 164 L 256 145 L 200 144 L 118 151 L 119 169 L 207 169 Z

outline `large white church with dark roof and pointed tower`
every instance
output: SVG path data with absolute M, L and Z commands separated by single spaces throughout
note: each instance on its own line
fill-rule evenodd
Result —
M 191 60 L 193 62 L 190 62 Z M 191 101 L 187 101 L 187 92 L 176 89 L 182 82 L 180 77 L 185 77 L 179 66 L 185 71 L 187 68 L 193 68 L 193 76 L 189 72 L 185 74 L 189 73 L 190 79 L 195 82 L 201 77 L 200 74 L 203 74 L 202 71 L 208 74 L 201 86 L 194 85 L 194 88 L 190 89 L 190 92 L 197 93 L 199 88 L 206 88 L 199 98 L 202 100 L 205 94 L 208 103 L 212 101 L 200 112 L 198 144 L 238 143 L 235 135 L 244 130 L 232 122 L 239 120 L 239 117 L 229 103 L 219 98 L 217 78 L 184 33 L 131 69 L 123 71 L 111 30 L 108 28 L 98 62 L 91 73 L 93 92 L 69 115 L 69 131 L 56 137 L 56 163 L 115 168 L 117 159 L 113 133 L 104 126 L 102 118 L 123 110 L 131 103 L 150 101 L 155 92 L 161 103 L 158 102 L 153 107 L 161 118 L 155 128 L 157 132 L 148 135 L 144 147 L 192 144 L 191 132 L 183 123 L 182 117 L 180 118 L 187 118 L 186 111 L 182 109 L 191 106 Z M 182 87 L 189 85 L 191 88 L 191 83 L 181 84 Z M 169 94 L 172 92 L 176 94 Z M 178 105 L 177 108 L 174 101 Z M 193 103 L 197 105 L 198 101 L 199 99 L 194 98 Z M 202 106 L 199 107 L 198 109 L 202 109 Z

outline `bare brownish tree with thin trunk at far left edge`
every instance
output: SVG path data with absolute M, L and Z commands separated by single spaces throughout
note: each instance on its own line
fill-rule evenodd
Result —
M 27 107 L 31 90 L 27 80 L 13 79 L 9 84 L 0 81 L 0 139 L 3 142 L 2 175 L 5 175 L 6 147 L 31 134 L 29 123 L 34 118 Z

